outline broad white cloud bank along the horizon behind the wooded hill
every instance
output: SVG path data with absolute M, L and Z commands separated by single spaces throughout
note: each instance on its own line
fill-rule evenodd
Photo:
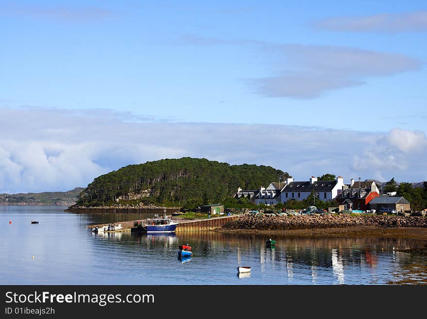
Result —
M 421 132 L 141 123 L 104 114 L 0 109 L 0 193 L 68 190 L 122 166 L 183 156 L 269 165 L 299 180 L 327 172 L 347 180 L 427 179 L 426 136 Z

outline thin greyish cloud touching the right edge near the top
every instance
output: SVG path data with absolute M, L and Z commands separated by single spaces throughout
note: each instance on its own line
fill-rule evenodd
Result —
M 327 30 L 351 32 L 425 32 L 427 31 L 427 11 L 332 17 L 318 21 L 315 26 Z

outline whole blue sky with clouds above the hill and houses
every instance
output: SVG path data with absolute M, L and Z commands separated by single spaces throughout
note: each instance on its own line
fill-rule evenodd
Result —
M 300 180 L 334 168 L 348 180 L 426 180 L 413 163 L 426 154 L 426 34 L 425 1 L 1 1 L 0 192 L 66 190 L 180 156 Z M 148 149 L 125 142 L 126 124 L 167 129 Z M 173 150 L 167 130 L 181 136 Z M 120 156 L 106 154 L 111 143 Z

